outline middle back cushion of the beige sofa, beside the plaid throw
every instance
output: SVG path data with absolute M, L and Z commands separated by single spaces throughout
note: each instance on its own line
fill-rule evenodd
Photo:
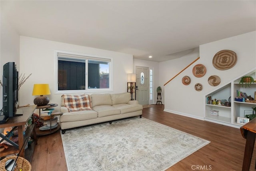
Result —
M 110 94 L 92 94 L 92 107 L 98 105 L 112 105 Z

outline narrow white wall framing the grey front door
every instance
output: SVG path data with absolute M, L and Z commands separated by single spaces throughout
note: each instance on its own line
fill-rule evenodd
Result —
M 148 67 L 153 70 L 153 100 L 149 101 L 149 104 L 155 104 L 157 101 L 156 87 L 159 85 L 159 63 L 145 60 L 133 60 L 133 73 L 136 73 L 136 66 Z

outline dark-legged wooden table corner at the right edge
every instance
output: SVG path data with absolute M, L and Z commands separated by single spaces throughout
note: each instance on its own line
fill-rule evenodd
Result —
M 240 131 L 242 136 L 246 139 L 242 171 L 249 171 L 256 138 L 256 118 L 240 127 Z

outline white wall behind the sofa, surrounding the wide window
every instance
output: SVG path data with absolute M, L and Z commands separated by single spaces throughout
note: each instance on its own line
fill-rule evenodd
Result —
M 48 95 L 50 103 L 58 103 L 56 111 L 60 108 L 62 94 L 55 93 L 55 50 L 74 52 L 79 54 L 92 54 L 113 59 L 113 89 L 112 92 L 123 93 L 127 91 L 127 73 L 133 71 L 133 56 L 119 52 L 89 48 L 73 44 L 42 40 L 20 36 L 20 71 L 30 78 L 20 88 L 20 105 L 33 104 L 32 90 L 34 84 L 49 84 L 51 95 Z M 90 93 L 88 93 L 90 94 Z

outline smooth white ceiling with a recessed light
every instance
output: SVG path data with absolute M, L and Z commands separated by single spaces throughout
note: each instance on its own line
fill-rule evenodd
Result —
M 22 36 L 156 62 L 256 30 L 256 1 L 1 0 L 0 5 L 1 19 Z

